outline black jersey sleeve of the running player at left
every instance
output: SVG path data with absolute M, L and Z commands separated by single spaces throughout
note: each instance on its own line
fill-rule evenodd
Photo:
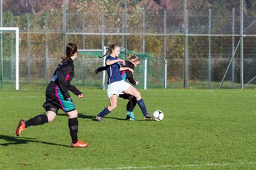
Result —
M 58 84 L 60 89 L 63 91 L 63 96 L 65 99 L 70 98 L 70 94 L 68 93 L 68 83 L 65 81 L 65 76 L 70 72 L 69 67 L 62 67 L 58 72 Z

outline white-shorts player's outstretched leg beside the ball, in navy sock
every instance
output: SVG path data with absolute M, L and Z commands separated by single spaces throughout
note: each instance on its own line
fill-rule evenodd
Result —
M 142 114 L 144 115 L 145 119 L 152 118 L 151 115 L 149 115 L 149 113 L 147 113 L 146 105 L 142 99 L 142 95 L 139 93 L 139 91 L 137 91 L 137 89 L 135 89 L 133 86 L 129 86 L 129 88 L 126 91 L 124 91 L 124 93 L 131 94 L 132 96 L 136 97 L 139 108 L 142 110 Z

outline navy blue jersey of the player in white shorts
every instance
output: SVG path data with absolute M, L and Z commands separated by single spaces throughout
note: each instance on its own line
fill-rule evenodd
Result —
M 118 60 L 118 58 L 112 57 L 111 55 L 109 55 L 106 58 L 106 62 L 107 60 Z M 119 72 L 120 67 L 121 67 L 120 62 L 116 62 L 112 65 L 107 65 L 107 75 L 108 75 L 107 84 L 112 84 L 116 81 L 122 80 L 121 74 Z

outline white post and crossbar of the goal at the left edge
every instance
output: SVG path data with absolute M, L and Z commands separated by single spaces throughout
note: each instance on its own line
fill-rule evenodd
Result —
M 19 67 L 18 67 L 18 63 L 19 63 L 19 48 L 18 48 L 18 42 L 19 42 L 19 29 L 18 27 L 0 27 L 0 31 L 1 33 L 3 33 L 4 31 L 9 31 L 9 30 L 13 30 L 15 31 L 15 75 L 16 75 L 16 79 L 15 79 L 15 89 L 18 90 L 19 89 Z M 1 36 L 2 37 L 2 36 Z M 1 38 L 1 45 L 3 44 L 3 39 Z M 3 62 L 3 48 L 1 47 L 1 62 Z M 3 63 L 1 63 L 1 73 L 3 74 Z

